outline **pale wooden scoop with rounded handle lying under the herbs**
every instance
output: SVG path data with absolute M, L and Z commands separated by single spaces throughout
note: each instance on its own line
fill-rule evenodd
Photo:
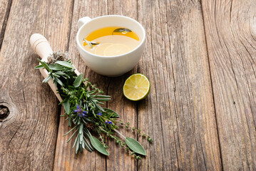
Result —
M 41 57 L 41 61 L 47 62 L 48 56 L 50 56 L 51 53 L 53 53 L 53 50 L 51 49 L 51 46 L 48 43 L 47 39 L 39 33 L 34 33 L 30 37 L 30 44 L 31 44 L 31 48 L 33 48 L 33 50 L 36 52 L 36 54 L 38 54 Z M 40 68 L 39 70 L 40 70 L 43 78 L 48 77 L 48 71 L 46 70 L 46 68 Z M 77 76 L 80 74 L 76 68 L 75 68 L 75 73 Z M 53 90 L 53 93 L 56 95 L 58 100 L 61 102 L 62 101 L 61 95 L 59 95 L 57 93 L 58 88 L 56 88 L 52 79 L 50 81 L 48 81 L 48 85 L 51 87 L 51 90 Z

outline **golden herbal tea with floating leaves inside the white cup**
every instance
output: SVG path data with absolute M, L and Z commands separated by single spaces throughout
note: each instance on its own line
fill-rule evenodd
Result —
M 132 51 L 140 43 L 138 35 L 128 28 L 100 28 L 83 38 L 86 51 L 99 56 L 118 56 Z

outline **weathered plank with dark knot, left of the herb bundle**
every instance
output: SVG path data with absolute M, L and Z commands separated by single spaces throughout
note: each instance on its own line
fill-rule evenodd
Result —
M 11 109 L 0 123 L 0 170 L 52 170 L 58 101 L 42 76 L 29 45 L 41 33 L 51 46 L 68 44 L 72 1 L 13 1 L 0 52 L 0 103 Z M 63 12 L 65 11 L 65 12 Z M 54 48 L 54 49 L 55 49 Z

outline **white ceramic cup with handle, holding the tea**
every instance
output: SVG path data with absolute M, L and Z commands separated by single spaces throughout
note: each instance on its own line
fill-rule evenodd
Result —
M 132 51 L 118 56 L 98 56 L 86 51 L 83 48 L 83 38 L 98 28 L 108 26 L 129 28 L 140 36 L 140 44 Z M 123 73 L 130 71 L 140 60 L 145 47 L 145 29 L 138 21 L 127 16 L 118 15 L 100 16 L 95 19 L 90 19 L 86 16 L 78 20 L 78 28 L 79 30 L 76 34 L 78 51 L 86 66 L 96 73 L 103 76 L 121 76 Z

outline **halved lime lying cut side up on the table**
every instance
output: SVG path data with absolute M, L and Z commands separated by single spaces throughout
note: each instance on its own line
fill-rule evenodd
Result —
M 142 100 L 150 91 L 150 82 L 141 73 L 135 73 L 127 78 L 123 85 L 123 95 L 129 100 Z

